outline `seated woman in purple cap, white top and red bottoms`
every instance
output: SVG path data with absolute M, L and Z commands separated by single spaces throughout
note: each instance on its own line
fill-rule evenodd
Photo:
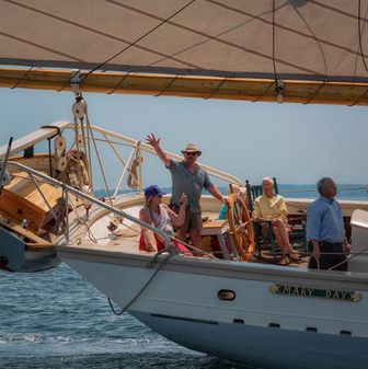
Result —
M 185 219 L 185 206 L 186 196 L 185 194 L 181 197 L 181 206 L 179 214 L 176 215 L 173 210 L 169 208 L 168 205 L 161 204 L 161 197 L 164 193 L 157 186 L 148 186 L 145 191 L 146 205 L 139 211 L 139 219 L 146 223 L 153 226 L 161 231 L 165 232 L 168 235 L 174 237 L 173 224 L 180 227 L 184 223 Z M 176 241 L 172 243 L 182 252 L 187 255 L 192 255 L 189 250 Z M 147 228 L 141 228 L 141 235 L 139 239 L 139 250 L 148 252 L 161 251 L 165 247 L 164 241 L 157 233 L 153 233 Z

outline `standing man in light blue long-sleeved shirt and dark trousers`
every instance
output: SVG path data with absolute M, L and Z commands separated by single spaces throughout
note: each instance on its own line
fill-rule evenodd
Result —
M 307 214 L 307 239 L 312 253 L 309 267 L 346 272 L 345 253 L 350 246 L 345 237 L 342 209 L 334 199 L 336 185 L 332 178 L 323 177 L 317 183 L 317 189 L 321 196 L 310 204 Z

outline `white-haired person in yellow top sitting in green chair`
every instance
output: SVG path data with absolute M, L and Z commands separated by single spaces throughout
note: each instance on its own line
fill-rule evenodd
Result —
M 289 242 L 290 228 L 287 223 L 287 208 L 284 197 L 274 194 L 274 181 L 265 177 L 262 181 L 263 195 L 254 200 L 253 219 L 255 221 L 271 221 L 277 245 L 281 249 L 280 265 L 300 260 L 299 253 Z

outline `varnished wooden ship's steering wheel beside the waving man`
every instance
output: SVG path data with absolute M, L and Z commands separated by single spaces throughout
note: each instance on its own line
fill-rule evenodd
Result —
M 235 194 L 229 195 L 228 220 L 230 237 L 241 261 L 251 261 L 254 254 L 254 231 L 245 203 Z

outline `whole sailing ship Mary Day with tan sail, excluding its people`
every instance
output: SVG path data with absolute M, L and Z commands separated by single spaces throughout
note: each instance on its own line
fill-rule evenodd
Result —
M 352 233 L 349 272 L 243 257 L 253 252 L 250 219 L 219 221 L 220 204 L 207 196 L 203 235 L 218 240 L 221 258 L 210 251 L 180 254 L 152 227 L 165 252 L 141 252 L 140 227 L 150 227 L 137 217 L 142 163 L 153 150 L 91 125 L 83 92 L 367 105 L 367 7 L 338 0 L 3 0 L 0 85 L 70 90 L 76 102 L 74 122 L 50 123 L 0 149 L 0 267 L 37 272 L 64 261 L 158 333 L 220 358 L 264 368 L 366 367 L 366 201 L 342 201 Z M 48 150 L 36 153 L 45 141 Z M 93 196 L 92 161 L 101 173 L 104 168 L 97 142 L 122 164 L 116 189 L 106 188 L 104 197 Z M 119 192 L 125 180 L 135 192 Z M 241 203 L 231 198 L 237 208 Z M 300 214 L 308 200 L 287 204 Z

